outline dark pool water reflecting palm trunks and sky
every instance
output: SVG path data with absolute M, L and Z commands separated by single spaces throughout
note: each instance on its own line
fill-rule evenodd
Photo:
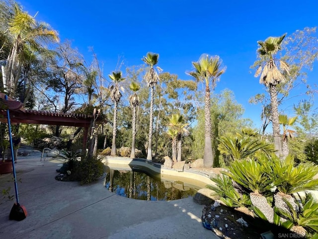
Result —
M 110 169 L 105 187 L 116 194 L 139 200 L 169 201 L 194 196 L 199 188 L 181 181 L 159 181 L 142 172 Z

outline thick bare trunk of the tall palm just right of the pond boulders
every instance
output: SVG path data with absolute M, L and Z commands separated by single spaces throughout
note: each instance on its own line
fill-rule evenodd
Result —
M 205 107 L 204 107 L 204 156 L 203 164 L 204 167 L 210 168 L 213 165 L 213 152 L 211 143 L 211 105 L 210 105 L 210 88 L 205 88 Z

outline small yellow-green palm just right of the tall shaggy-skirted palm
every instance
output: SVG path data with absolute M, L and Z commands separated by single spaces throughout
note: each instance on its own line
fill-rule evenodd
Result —
M 278 119 L 279 123 L 283 125 L 282 154 L 283 157 L 286 158 L 289 154 L 288 139 L 294 138 L 294 133 L 296 132 L 294 130 L 288 129 L 288 126 L 292 126 L 295 123 L 297 116 L 288 118 L 287 115 L 279 115 Z

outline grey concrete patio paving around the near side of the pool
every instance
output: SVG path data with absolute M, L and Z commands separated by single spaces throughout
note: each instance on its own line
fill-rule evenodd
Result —
M 13 200 L 0 197 L 1 239 L 218 239 L 203 228 L 203 205 L 192 197 L 175 201 L 132 200 L 106 190 L 103 180 L 80 186 L 55 180 L 62 162 L 40 161 L 41 153 L 19 156 L 15 164 L 19 201 L 28 216 L 8 219 Z M 12 174 L 0 175 L 0 191 Z

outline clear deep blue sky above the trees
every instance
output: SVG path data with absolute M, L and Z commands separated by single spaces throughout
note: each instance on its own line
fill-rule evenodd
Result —
M 165 72 L 190 79 L 192 61 L 202 53 L 219 55 L 227 71 L 216 92 L 228 88 L 245 108 L 244 117 L 259 125 L 260 106 L 250 97 L 264 93 L 249 67 L 256 59 L 257 41 L 291 34 L 318 25 L 317 0 L 20 0 L 24 10 L 49 23 L 61 40 L 73 40 L 90 62 L 92 46 L 105 75 L 115 69 L 118 57 L 125 66 L 139 65 L 147 52 L 159 53 Z M 125 68 L 121 69 L 125 71 Z M 309 83 L 318 82 L 318 64 Z M 295 99 L 296 100 L 296 99 Z M 298 99 L 299 100 L 299 99 Z M 280 110 L 292 110 L 287 102 Z M 286 111 L 292 115 L 292 111 Z

